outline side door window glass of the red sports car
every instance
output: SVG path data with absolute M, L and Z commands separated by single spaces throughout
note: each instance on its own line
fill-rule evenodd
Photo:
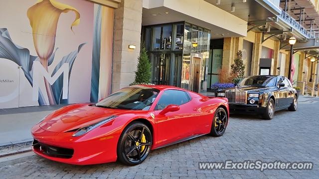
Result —
M 160 97 L 158 104 L 156 105 L 156 110 L 162 110 L 170 104 L 181 105 L 187 103 L 190 99 L 188 98 L 186 92 L 179 90 L 166 90 Z

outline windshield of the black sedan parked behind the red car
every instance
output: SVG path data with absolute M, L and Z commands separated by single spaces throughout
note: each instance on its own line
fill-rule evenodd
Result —
M 276 77 L 274 76 L 252 76 L 241 80 L 237 86 L 275 86 Z

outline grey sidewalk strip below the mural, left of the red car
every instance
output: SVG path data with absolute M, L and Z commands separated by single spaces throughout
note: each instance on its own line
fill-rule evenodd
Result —
M 63 105 L 0 109 L 0 146 L 32 141 L 31 128 Z

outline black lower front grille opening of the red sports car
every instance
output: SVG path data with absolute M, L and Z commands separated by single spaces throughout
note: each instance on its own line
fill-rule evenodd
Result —
M 50 157 L 70 159 L 72 158 L 74 153 L 73 149 L 50 146 L 43 143 L 39 143 L 37 140 L 33 141 L 32 146 L 34 150 L 36 150 L 37 152 L 40 152 Z

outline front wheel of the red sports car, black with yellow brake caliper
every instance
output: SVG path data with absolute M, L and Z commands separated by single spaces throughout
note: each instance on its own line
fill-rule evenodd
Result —
M 145 124 L 129 124 L 119 138 L 118 160 L 129 166 L 141 164 L 151 151 L 152 141 L 152 133 Z

